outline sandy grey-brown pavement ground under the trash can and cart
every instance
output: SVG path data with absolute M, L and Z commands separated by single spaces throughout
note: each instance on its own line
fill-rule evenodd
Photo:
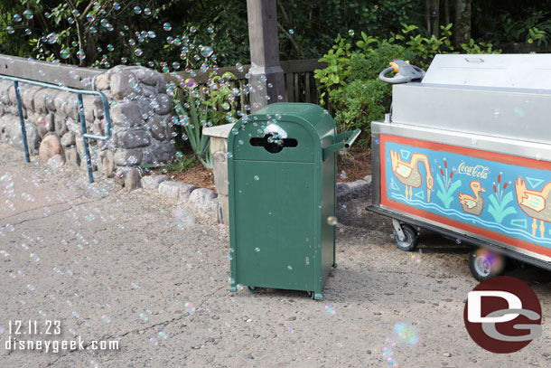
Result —
M 537 293 L 543 335 L 515 354 L 486 352 L 462 318 L 478 284 L 469 249 L 424 233 L 421 252 L 397 250 L 388 219 L 364 210 L 368 198 L 340 204 L 339 268 L 322 301 L 274 289 L 229 293 L 226 226 L 156 193 L 127 193 L 100 177 L 89 185 L 86 173 L 34 157 L 25 164 L 5 145 L 0 199 L 0 367 L 551 364 L 550 272 L 508 271 Z M 117 341 L 119 349 L 9 351 L 16 320 L 39 328 L 59 320 L 54 339 Z

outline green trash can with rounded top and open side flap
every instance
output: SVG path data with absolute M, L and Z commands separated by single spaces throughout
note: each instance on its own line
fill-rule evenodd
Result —
M 236 123 L 228 139 L 229 291 L 323 298 L 336 267 L 336 152 L 359 134 L 337 136 L 327 111 L 308 103 L 275 103 Z

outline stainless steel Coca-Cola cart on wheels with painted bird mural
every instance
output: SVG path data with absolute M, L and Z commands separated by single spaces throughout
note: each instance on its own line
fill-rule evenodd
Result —
M 500 255 L 551 269 L 551 55 L 437 55 L 407 75 L 371 124 L 369 210 L 394 219 L 403 250 L 414 227 L 480 247 L 478 279 Z

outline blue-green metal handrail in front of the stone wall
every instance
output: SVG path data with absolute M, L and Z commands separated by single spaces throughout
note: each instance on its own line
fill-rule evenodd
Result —
M 52 90 L 64 90 L 67 92 L 72 92 L 77 94 L 78 98 L 78 109 L 79 109 L 79 116 L 80 116 L 80 127 L 82 131 L 82 142 L 84 143 L 84 152 L 86 155 L 86 164 L 88 166 L 88 178 L 89 183 L 94 183 L 94 175 L 92 174 L 92 163 L 90 158 L 90 152 L 89 152 L 89 145 L 88 140 L 89 139 L 98 139 L 106 141 L 111 138 L 111 115 L 109 114 L 109 103 L 107 101 L 107 97 L 98 90 L 77 90 L 70 87 L 61 87 L 56 86 L 55 84 L 50 83 L 43 83 L 41 81 L 35 81 L 35 80 L 25 80 L 23 78 L 16 78 L 16 77 L 8 77 L 5 75 L 0 74 L 0 80 L 12 80 L 14 82 L 14 90 L 15 90 L 15 99 L 17 99 L 17 111 L 19 113 L 19 122 L 21 124 L 21 134 L 23 137 L 23 146 L 25 150 L 25 161 L 30 162 L 29 158 L 29 146 L 27 143 L 27 132 L 25 130 L 25 124 L 24 124 L 24 118 L 23 118 L 23 106 L 21 103 L 21 96 L 19 93 L 19 82 L 25 83 L 25 84 L 31 84 L 33 86 L 39 86 L 44 88 L 49 88 Z M 82 101 L 82 95 L 97 95 L 101 98 L 103 102 L 103 108 L 105 112 L 105 119 L 107 122 L 107 136 L 97 136 L 93 134 L 88 134 L 86 130 L 86 118 L 84 118 L 84 103 Z

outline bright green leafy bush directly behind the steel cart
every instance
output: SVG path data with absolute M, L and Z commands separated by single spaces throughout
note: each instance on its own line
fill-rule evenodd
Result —
M 340 132 L 351 128 L 362 129 L 360 145 L 369 146 L 370 122 L 384 117 L 390 109 L 391 88 L 378 80 L 380 71 L 394 59 L 411 61 L 426 69 L 437 53 L 458 53 L 452 43 L 452 24 L 441 26 L 442 36 L 424 37 L 416 25 L 403 24 L 400 33 L 388 39 L 360 34 L 353 37 L 338 35 L 332 49 L 320 61 L 327 67 L 314 71 L 320 80 L 322 105 L 329 105 Z M 467 53 L 491 53 L 490 43 L 473 40 L 462 44 Z

